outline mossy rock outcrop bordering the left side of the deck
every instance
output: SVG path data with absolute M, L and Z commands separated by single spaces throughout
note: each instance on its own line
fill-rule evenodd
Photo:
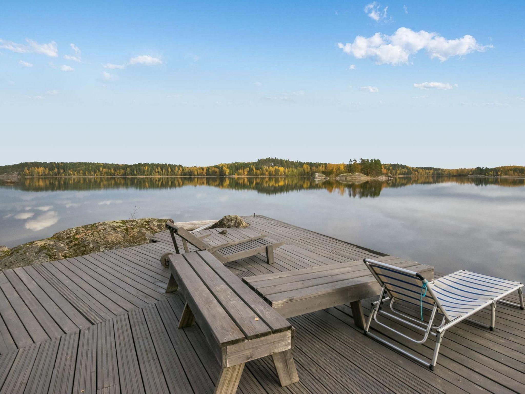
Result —
M 150 242 L 153 234 L 166 229 L 166 220 L 171 219 L 147 217 L 87 224 L 7 251 L 2 252 L 0 248 L 0 269 L 145 244 Z

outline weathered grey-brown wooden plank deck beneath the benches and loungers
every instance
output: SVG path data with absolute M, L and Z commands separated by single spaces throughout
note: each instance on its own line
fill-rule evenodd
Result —
M 228 263 L 239 277 L 386 255 L 269 217 L 243 219 L 247 229 L 202 233 L 214 244 L 257 233 L 286 244 L 272 265 L 264 255 Z M 155 241 L 1 272 L 0 394 L 213 392 L 220 366 L 197 326 L 177 329 L 183 300 L 164 294 L 169 272 L 159 263 L 173 247 L 168 233 Z M 300 382 L 281 388 L 266 357 L 246 364 L 238 392 L 525 393 L 525 313 L 516 308 L 498 305 L 494 332 L 468 323 L 447 331 L 434 372 L 365 337 L 350 306 L 289 321 Z M 433 350 L 430 340 L 401 346 Z

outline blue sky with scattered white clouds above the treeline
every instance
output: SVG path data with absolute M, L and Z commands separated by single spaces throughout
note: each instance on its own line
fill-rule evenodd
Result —
M 0 164 L 525 165 L 524 17 L 521 1 L 7 1 Z

